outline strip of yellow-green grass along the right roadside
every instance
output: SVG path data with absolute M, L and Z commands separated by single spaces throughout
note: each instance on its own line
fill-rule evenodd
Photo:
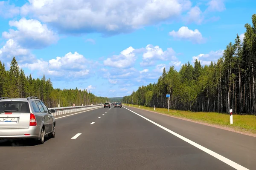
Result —
M 127 105 L 127 104 L 125 104 Z M 129 104 L 128 104 L 129 106 Z M 132 107 L 132 104 L 130 104 Z M 139 105 L 133 105 L 139 108 Z M 154 111 L 153 107 L 140 106 L 140 109 Z M 254 115 L 233 115 L 233 125 L 230 125 L 230 115 L 216 112 L 190 112 L 181 110 L 172 110 L 166 108 L 155 108 L 155 112 L 173 115 L 181 118 L 188 118 L 195 121 L 217 124 L 225 127 L 232 127 L 240 131 L 250 131 L 256 133 L 256 116 Z

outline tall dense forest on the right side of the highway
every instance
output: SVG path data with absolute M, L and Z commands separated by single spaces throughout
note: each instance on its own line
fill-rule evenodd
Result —
M 195 60 L 177 72 L 170 67 L 157 83 L 140 86 L 136 92 L 125 96 L 122 101 L 148 107 L 167 107 L 166 94 L 170 94 L 171 109 L 229 112 L 238 114 L 256 112 L 256 14 L 252 25 L 245 24 L 246 32 L 241 43 L 239 35 L 234 43 L 228 43 L 223 57 L 209 66 L 201 66 Z

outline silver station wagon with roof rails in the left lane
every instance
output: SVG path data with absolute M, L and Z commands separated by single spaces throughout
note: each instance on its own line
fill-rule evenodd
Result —
M 55 138 L 54 112 L 36 97 L 0 98 L 0 139 L 34 138 L 43 144 L 45 135 Z

